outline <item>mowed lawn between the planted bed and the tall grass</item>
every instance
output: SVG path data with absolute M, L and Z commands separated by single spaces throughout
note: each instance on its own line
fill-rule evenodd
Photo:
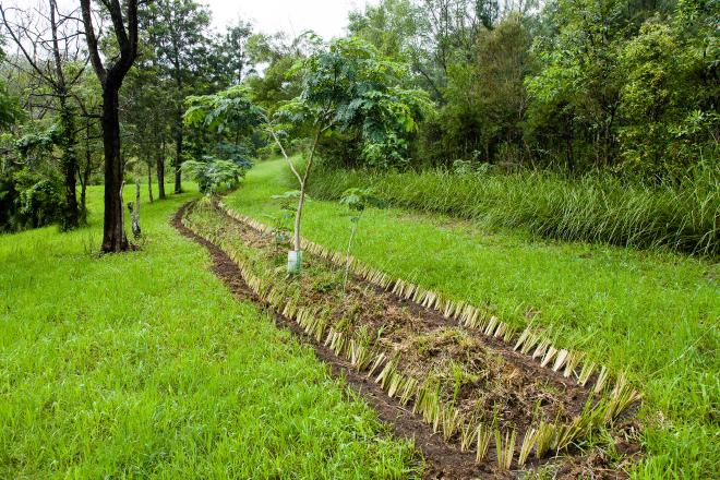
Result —
M 285 169 L 280 160 L 259 164 L 226 202 L 273 221 L 279 206 L 271 196 L 297 189 Z M 312 201 L 303 228 L 309 239 L 344 250 L 347 207 Z M 559 346 L 627 371 L 646 397 L 639 412 L 646 455 L 634 477 L 706 479 L 720 471 L 717 265 L 482 231 L 396 208 L 363 215 L 353 254 L 394 276 L 487 305 L 518 327 L 533 319 Z

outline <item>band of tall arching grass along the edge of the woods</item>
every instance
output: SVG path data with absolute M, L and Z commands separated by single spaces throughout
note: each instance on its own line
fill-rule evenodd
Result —
M 324 168 L 310 187 L 335 200 L 372 185 L 393 206 L 472 219 L 492 228 L 525 228 L 544 238 L 664 247 L 705 256 L 720 253 L 719 177 L 698 169 L 677 182 L 648 184 L 609 173 L 569 177 L 549 171 L 456 173 L 370 172 Z

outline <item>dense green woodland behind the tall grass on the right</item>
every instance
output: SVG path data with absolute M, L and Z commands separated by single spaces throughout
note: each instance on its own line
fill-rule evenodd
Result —
M 717 2 L 536 7 L 383 0 L 351 14 L 350 32 L 406 62 L 406 85 L 435 98 L 439 116 L 400 148 L 340 137 L 336 164 L 404 151 L 420 167 L 463 159 L 661 181 L 720 155 Z

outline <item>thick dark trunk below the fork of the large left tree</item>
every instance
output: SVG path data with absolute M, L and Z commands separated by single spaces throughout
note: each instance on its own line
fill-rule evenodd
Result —
M 128 250 L 123 228 L 122 161 L 120 158 L 119 85 L 103 89 L 103 147 L 105 151 L 105 223 L 103 252 Z

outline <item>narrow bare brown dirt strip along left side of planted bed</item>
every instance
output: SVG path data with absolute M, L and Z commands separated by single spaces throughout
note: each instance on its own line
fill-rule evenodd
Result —
M 173 227 L 184 237 L 202 244 L 211 253 L 213 273 L 217 275 L 239 300 L 250 300 L 264 308 L 242 280 L 240 269 L 217 245 L 196 236 L 182 225 L 182 217 L 190 203 L 184 204 L 172 217 Z M 389 398 L 379 384 L 358 373 L 350 364 L 337 357 L 333 351 L 314 341 L 295 322 L 291 322 L 277 312 L 265 309 L 275 320 L 275 323 L 291 331 L 303 344 L 310 345 L 317 357 L 331 367 L 335 377 L 344 377 L 356 392 L 368 401 L 377 412 L 377 417 L 392 427 L 393 433 L 399 437 L 413 439 L 416 445 L 422 451 L 425 468 L 423 478 L 427 479 L 469 479 L 469 478 L 511 478 L 501 476 L 489 468 L 488 465 L 476 465 L 473 453 L 461 453 L 459 448 L 448 445 L 441 434 L 432 432 L 430 425 L 422 421 L 420 416 L 413 415 L 403 407 L 395 398 Z

